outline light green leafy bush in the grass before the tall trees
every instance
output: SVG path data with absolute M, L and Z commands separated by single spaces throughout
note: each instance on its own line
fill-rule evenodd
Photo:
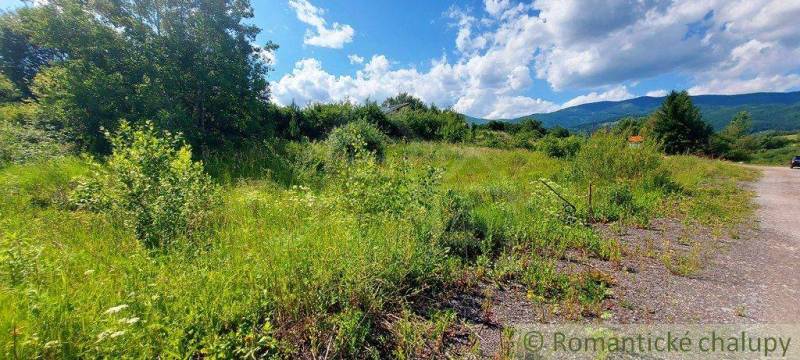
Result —
M 107 167 L 79 181 L 73 204 L 118 215 L 148 248 L 195 238 L 207 224 L 217 189 L 180 135 L 159 136 L 151 122 L 134 128 L 122 121 L 106 136 L 113 147 Z

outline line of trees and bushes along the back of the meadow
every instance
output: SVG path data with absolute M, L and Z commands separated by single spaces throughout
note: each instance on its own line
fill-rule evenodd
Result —
M 0 15 L 0 138 L 7 139 L 0 148 L 8 153 L 13 141 L 60 142 L 107 154 L 104 131 L 122 120 L 181 133 L 200 154 L 273 137 L 322 140 L 356 121 L 396 139 L 468 141 L 554 156 L 574 154 L 580 144 L 566 129 L 546 129 L 532 118 L 469 124 L 406 93 L 381 104 L 275 105 L 263 55 L 277 45 L 254 45 L 260 29 L 247 23 L 252 17 L 248 0 L 52 0 Z M 672 92 L 647 118 L 622 119 L 612 131 L 641 133 L 670 154 L 739 159 L 763 145 L 747 138 L 744 113 L 714 134 L 685 91 Z

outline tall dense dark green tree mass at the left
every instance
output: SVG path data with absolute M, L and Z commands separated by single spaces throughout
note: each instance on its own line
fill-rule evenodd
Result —
M 109 150 L 99 128 L 119 118 L 153 119 L 203 149 L 271 131 L 262 55 L 275 46 L 252 44 L 248 0 L 52 0 L 8 16 L 15 34 L 57 54 L 32 92 L 90 150 Z

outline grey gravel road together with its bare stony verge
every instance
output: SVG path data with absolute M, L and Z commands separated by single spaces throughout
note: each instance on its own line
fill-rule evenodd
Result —
M 504 328 L 534 323 L 799 323 L 800 169 L 759 169 L 762 178 L 745 185 L 756 193 L 755 218 L 733 231 L 717 234 L 672 219 L 655 220 L 646 229 L 598 225 L 621 240 L 623 260 L 575 255 L 561 267 L 599 270 L 616 280 L 613 295 L 600 304 L 602 318 L 572 320 L 563 308 L 532 303 L 515 284 L 483 284 L 454 298 L 451 306 L 480 348 L 476 355 L 498 357 Z

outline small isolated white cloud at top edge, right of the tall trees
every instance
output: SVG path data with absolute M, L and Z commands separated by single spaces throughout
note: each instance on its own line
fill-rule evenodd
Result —
M 306 30 L 304 44 L 341 49 L 344 44 L 353 41 L 355 30 L 350 25 L 334 22 L 328 27 L 322 18 L 325 11 L 312 5 L 308 0 L 289 0 L 289 6 L 294 9 L 298 20 L 314 27 L 314 30 Z

